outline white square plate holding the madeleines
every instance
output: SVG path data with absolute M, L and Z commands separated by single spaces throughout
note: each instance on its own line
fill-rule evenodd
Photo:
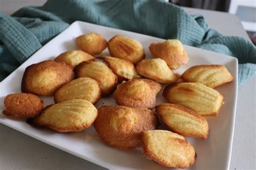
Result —
M 0 111 L 4 109 L 3 100 L 7 94 L 21 92 L 21 80 L 25 68 L 31 64 L 42 62 L 43 60 L 54 59 L 60 53 L 77 49 L 75 38 L 79 35 L 97 32 L 107 40 L 115 35 L 125 35 L 138 40 L 144 46 L 147 58 L 151 58 L 149 51 L 150 43 L 163 42 L 164 39 L 142 35 L 139 33 L 107 28 L 85 22 L 74 22 L 68 29 L 53 38 L 44 45 L 32 57 L 26 60 L 17 70 L 0 83 Z M 190 58 L 187 65 L 174 71 L 183 73 L 191 66 L 199 64 L 224 64 L 234 77 L 231 83 L 217 87 L 220 93 L 225 96 L 225 104 L 221 107 L 217 117 L 207 117 L 210 126 L 210 135 L 206 140 L 187 138 L 194 146 L 197 158 L 196 164 L 191 169 L 228 169 L 230 165 L 235 108 L 237 104 L 237 79 L 238 60 L 237 58 L 221 55 L 219 53 L 197 49 L 185 45 L 187 55 Z M 103 52 L 109 55 L 107 49 Z M 158 94 L 158 104 L 166 103 Z M 41 96 L 44 106 L 54 103 L 53 97 Z M 102 98 L 96 107 L 100 105 L 116 105 L 112 97 Z M 0 123 L 12 127 L 20 132 L 41 140 L 63 151 L 77 155 L 77 157 L 89 160 L 95 164 L 110 169 L 165 169 L 156 162 L 147 160 L 142 156 L 142 148 L 133 151 L 120 151 L 105 145 L 98 137 L 92 127 L 79 133 L 58 133 L 48 129 L 39 129 L 25 123 L 24 120 L 7 118 L 0 114 Z

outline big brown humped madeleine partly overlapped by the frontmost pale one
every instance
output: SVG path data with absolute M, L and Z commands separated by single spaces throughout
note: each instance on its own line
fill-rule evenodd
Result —
M 100 106 L 93 125 L 107 145 L 134 149 L 142 146 L 142 132 L 156 129 L 159 121 L 157 115 L 146 108 Z

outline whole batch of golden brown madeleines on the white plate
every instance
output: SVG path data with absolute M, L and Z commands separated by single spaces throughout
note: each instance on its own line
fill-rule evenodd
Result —
M 3 114 L 58 132 L 79 132 L 93 124 L 107 145 L 143 147 L 146 158 L 167 167 L 193 166 L 196 153 L 184 137 L 208 137 L 204 117 L 217 116 L 224 101 L 213 88 L 233 80 L 226 67 L 196 65 L 181 76 L 174 73 L 188 62 L 177 39 L 152 43 L 153 59 L 145 59 L 137 40 L 121 35 L 107 42 L 91 32 L 77 37 L 76 44 L 81 50 L 28 66 L 23 93 L 6 96 Z M 106 47 L 111 57 L 93 57 Z M 156 106 L 160 83 L 169 84 L 163 90 L 168 103 Z M 112 93 L 118 105 L 97 110 L 94 104 Z M 44 108 L 37 95 L 54 95 L 55 104 Z M 170 131 L 157 130 L 158 116 Z

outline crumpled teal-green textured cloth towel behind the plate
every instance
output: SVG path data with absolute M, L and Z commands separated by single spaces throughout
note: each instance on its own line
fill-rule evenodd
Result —
M 0 12 L 0 80 L 74 21 L 85 21 L 237 57 L 239 84 L 256 72 L 256 48 L 241 37 L 208 28 L 203 16 L 189 15 L 164 1 L 55 1 L 25 7 L 12 16 Z

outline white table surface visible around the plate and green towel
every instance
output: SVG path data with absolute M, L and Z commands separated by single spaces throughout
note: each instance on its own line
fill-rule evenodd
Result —
M 45 0 L 0 0 L 0 11 L 11 14 Z M 238 17 L 224 12 L 184 8 L 203 15 L 208 25 L 226 36 L 249 39 Z M 255 169 L 256 76 L 238 88 L 230 169 Z M 218 162 L 216 162 L 218 164 Z M 0 124 L 0 169 L 104 169 Z

